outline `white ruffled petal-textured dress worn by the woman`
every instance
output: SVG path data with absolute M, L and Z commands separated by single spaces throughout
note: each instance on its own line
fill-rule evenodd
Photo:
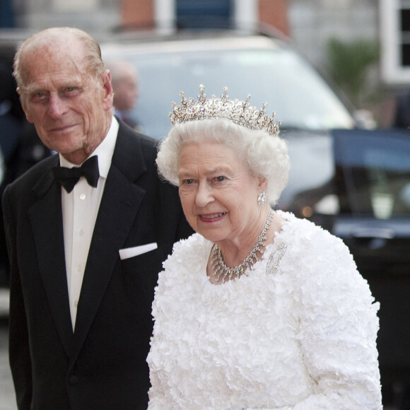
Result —
M 174 245 L 153 303 L 148 409 L 382 409 L 379 304 L 339 238 L 281 216 L 263 259 L 223 285 L 206 276 L 211 242 Z

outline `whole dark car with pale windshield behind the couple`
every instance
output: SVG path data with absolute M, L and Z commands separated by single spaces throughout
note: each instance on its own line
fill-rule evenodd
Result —
M 185 35 L 102 44 L 104 59 L 127 59 L 139 71 L 131 112 L 143 131 L 168 133 L 179 92 L 269 102 L 288 141 L 291 175 L 279 209 L 309 218 L 342 238 L 380 301 L 385 407 L 405 408 L 410 386 L 410 132 L 365 130 L 355 112 L 288 44 L 260 35 Z M 410 408 L 410 407 L 409 407 Z

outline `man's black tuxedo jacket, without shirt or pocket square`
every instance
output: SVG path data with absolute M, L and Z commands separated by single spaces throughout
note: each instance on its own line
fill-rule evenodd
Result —
M 4 192 L 11 260 L 10 363 L 20 410 L 138 410 L 148 402 L 151 303 L 172 244 L 192 233 L 177 190 L 157 175 L 154 141 L 120 122 L 71 327 L 61 213 L 52 168 Z M 130 259 L 119 250 L 157 242 Z

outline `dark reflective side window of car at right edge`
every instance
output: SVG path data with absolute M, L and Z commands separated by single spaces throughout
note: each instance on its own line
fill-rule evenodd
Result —
M 390 219 L 410 216 L 410 133 L 334 131 L 336 165 L 351 213 Z

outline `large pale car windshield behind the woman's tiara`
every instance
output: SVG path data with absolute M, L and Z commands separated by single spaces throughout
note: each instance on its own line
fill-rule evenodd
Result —
M 286 47 L 271 49 L 198 49 L 189 52 L 122 52 L 106 50 L 105 59 L 130 60 L 139 71 L 139 100 L 132 115 L 145 134 L 168 134 L 171 102 L 179 92 L 196 96 L 204 83 L 206 94 L 221 95 L 228 86 L 230 98 L 243 100 L 251 93 L 257 107 L 269 103 L 283 129 L 351 128 L 353 119 L 315 69 Z

